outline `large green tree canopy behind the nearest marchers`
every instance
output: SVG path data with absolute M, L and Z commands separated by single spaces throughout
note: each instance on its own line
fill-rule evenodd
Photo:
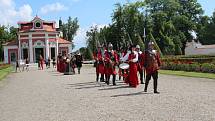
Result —
M 147 48 L 154 41 L 165 55 L 184 54 L 186 43 L 195 31 L 203 44 L 215 44 L 215 13 L 204 16 L 197 0 L 145 0 L 115 4 L 112 22 L 103 28 L 92 27 L 87 32 L 87 47 L 112 43 L 115 50 L 128 44 Z M 144 36 L 146 34 L 146 36 Z

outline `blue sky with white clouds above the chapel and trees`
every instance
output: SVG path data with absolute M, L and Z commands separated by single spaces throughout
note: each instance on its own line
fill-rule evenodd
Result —
M 0 24 L 16 25 L 17 21 L 29 21 L 35 15 L 44 20 L 58 22 L 78 17 L 80 29 L 75 37 L 76 49 L 85 46 L 85 32 L 92 25 L 104 26 L 111 22 L 114 4 L 127 0 L 0 0 Z M 135 0 L 130 0 L 135 1 Z M 205 14 L 211 16 L 214 0 L 198 0 Z

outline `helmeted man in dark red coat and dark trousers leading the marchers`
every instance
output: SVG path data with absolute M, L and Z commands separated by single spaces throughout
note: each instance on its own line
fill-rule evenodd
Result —
M 146 68 L 146 83 L 144 92 L 147 92 L 147 87 L 151 77 L 154 80 L 154 93 L 159 94 L 157 91 L 158 69 L 161 65 L 160 55 L 157 50 L 154 50 L 154 43 L 149 42 L 148 50 L 144 53 L 144 67 Z

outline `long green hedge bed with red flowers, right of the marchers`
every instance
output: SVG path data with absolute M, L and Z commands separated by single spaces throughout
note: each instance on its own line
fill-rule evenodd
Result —
M 162 62 L 163 70 L 215 73 L 213 56 L 173 56 L 163 58 Z

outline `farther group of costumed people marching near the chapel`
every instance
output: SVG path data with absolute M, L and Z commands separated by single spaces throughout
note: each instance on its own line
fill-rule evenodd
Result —
M 64 74 L 68 74 L 70 72 L 75 74 L 75 68 L 77 68 L 78 74 L 80 74 L 82 63 L 83 57 L 79 52 L 75 55 L 59 54 L 57 57 L 57 71 Z

